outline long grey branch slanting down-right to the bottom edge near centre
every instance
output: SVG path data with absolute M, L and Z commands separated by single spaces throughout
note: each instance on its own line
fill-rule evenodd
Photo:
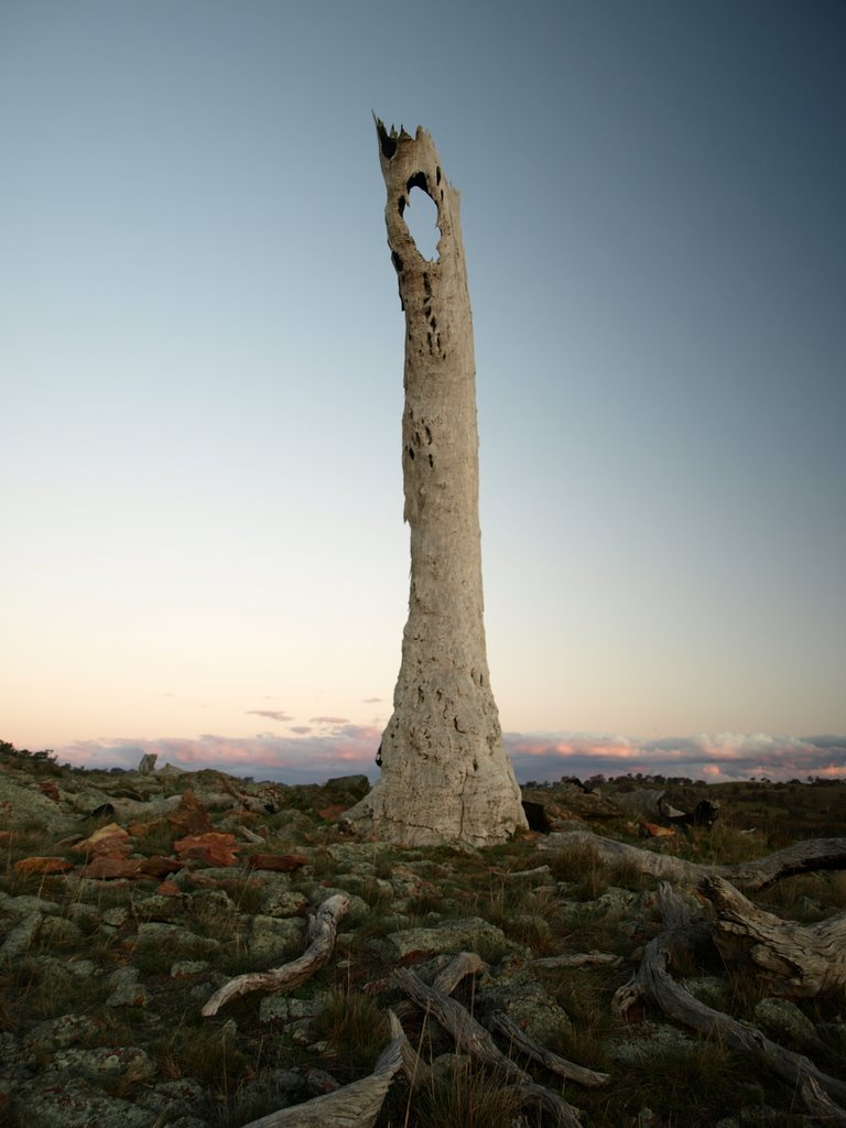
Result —
M 559 1128 L 580 1128 L 576 1109 L 550 1090 L 536 1084 L 500 1050 L 491 1034 L 476 1022 L 466 1007 L 434 987 L 426 986 L 409 968 L 395 968 L 394 977 L 415 1003 L 438 1019 L 444 1030 L 452 1036 L 459 1049 L 500 1070 L 503 1076 L 513 1078 L 523 1099 L 527 1102 L 541 1104 L 545 1111 L 555 1118 Z

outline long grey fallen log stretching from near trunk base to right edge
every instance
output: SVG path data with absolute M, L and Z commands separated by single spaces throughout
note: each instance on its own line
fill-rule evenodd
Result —
M 591 851 L 606 864 L 635 865 L 641 873 L 647 873 L 663 881 L 698 884 L 705 878 L 715 875 L 725 878 L 750 892 L 766 889 L 781 878 L 791 878 L 797 873 L 846 870 L 846 838 L 811 838 L 779 849 L 767 857 L 737 865 L 702 865 L 697 862 L 687 862 L 670 854 L 655 854 L 653 851 L 641 849 L 640 846 L 603 838 L 590 830 L 553 834 L 538 844 L 538 848 L 545 851 L 573 846 Z

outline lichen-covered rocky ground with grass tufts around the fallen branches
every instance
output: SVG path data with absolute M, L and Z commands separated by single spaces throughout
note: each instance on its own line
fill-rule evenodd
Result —
M 581 1110 L 587 1128 L 821 1122 L 790 1086 L 719 1041 L 649 1007 L 615 1017 L 615 992 L 661 928 L 655 883 L 584 851 L 544 848 L 549 830 L 589 828 L 737 861 L 767 853 L 760 834 L 732 826 L 730 812 L 710 831 L 660 826 L 614 796 L 562 784 L 527 791 L 543 829 L 506 846 L 399 849 L 340 829 L 338 814 L 367 787 L 362 776 L 285 787 L 167 767 L 71 770 L 6 746 L 0 1122 L 238 1128 L 369 1074 L 390 1039 L 389 1008 L 434 1069 L 413 1098 L 395 1079 L 382 1128 L 554 1122 L 509 1108 L 502 1078 L 477 1075 L 456 1055 L 393 973 L 413 968 L 429 984 L 459 952 L 483 961 L 455 992 L 468 1011 L 483 1021 L 505 1015 L 535 1042 L 607 1075 L 581 1087 L 520 1058 Z M 781 915 L 843 911 L 843 874 L 791 881 Z M 323 968 L 291 992 L 253 992 L 202 1015 L 232 977 L 301 955 L 309 914 L 336 893 L 347 908 Z M 694 890 L 685 896 L 691 911 L 705 911 Z M 710 1005 L 846 1072 L 841 1001 L 774 993 L 712 950 L 675 973 Z M 444 1095 L 457 1089 L 469 1101 L 464 1111 Z

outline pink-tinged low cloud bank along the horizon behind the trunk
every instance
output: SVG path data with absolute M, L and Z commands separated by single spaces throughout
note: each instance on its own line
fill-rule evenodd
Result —
M 314 720 L 321 722 L 319 732 L 298 726 L 293 735 L 259 733 L 244 739 L 85 740 L 55 752 L 60 760 L 88 768 L 134 768 L 146 752 L 156 752 L 158 767 L 173 764 L 191 772 L 218 768 L 236 776 L 290 784 L 324 783 L 333 776 L 359 773 L 377 777 L 381 728 L 351 724 L 340 717 Z M 503 740 L 521 783 L 638 772 L 710 783 L 761 776 L 773 781 L 808 776 L 846 779 L 846 735 L 724 732 L 635 740 L 603 733 L 506 732 Z

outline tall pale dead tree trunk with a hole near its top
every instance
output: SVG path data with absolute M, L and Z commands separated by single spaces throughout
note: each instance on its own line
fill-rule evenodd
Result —
M 406 323 L 403 474 L 412 574 L 381 776 L 344 821 L 388 841 L 486 845 L 527 823 L 487 670 L 476 372 L 458 193 L 429 133 L 388 133 L 378 121 L 377 132 Z M 403 218 L 415 187 L 438 209 L 432 261 Z

